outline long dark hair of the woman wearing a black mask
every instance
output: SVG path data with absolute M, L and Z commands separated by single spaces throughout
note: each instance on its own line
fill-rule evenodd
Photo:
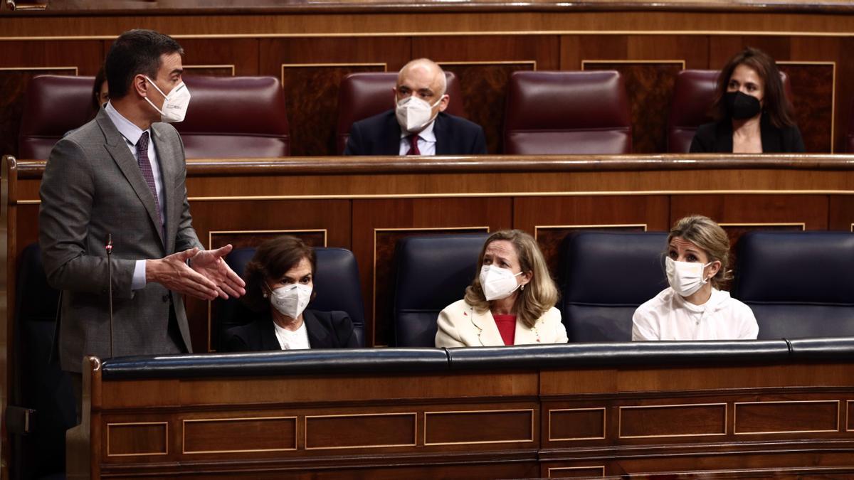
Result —
M 727 118 L 726 95 L 729 78 L 733 76 L 735 67 L 745 65 L 756 70 L 759 77 L 765 83 L 763 111 L 768 114 L 771 125 L 777 128 L 793 126 L 795 124 L 792 112 L 792 102 L 786 97 L 783 89 L 783 80 L 780 70 L 771 56 L 762 50 L 747 47 L 741 50 L 727 61 L 717 77 L 717 88 L 715 89 L 715 103 L 712 110 L 717 120 Z

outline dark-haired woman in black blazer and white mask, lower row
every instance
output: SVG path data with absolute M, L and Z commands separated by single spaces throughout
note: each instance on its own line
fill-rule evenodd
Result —
M 307 310 L 314 298 L 314 249 L 296 237 L 261 243 L 246 266 L 241 299 L 260 319 L 226 332 L 225 351 L 358 347 L 344 312 Z

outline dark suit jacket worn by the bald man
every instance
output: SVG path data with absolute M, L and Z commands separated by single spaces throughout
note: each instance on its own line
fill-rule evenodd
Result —
M 436 155 L 486 155 L 483 128 L 444 112 L 436 115 Z M 401 125 L 394 108 L 350 127 L 344 155 L 401 155 Z

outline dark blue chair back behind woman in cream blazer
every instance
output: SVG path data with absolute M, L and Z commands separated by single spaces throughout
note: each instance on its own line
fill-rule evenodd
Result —
M 436 346 L 442 308 L 465 296 L 488 233 L 407 237 L 397 243 L 395 345 Z

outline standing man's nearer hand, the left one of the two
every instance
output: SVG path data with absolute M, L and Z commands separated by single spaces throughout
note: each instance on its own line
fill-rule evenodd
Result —
M 198 253 L 199 249 L 189 249 L 161 259 L 145 260 L 145 281 L 156 282 L 182 295 L 213 300 L 219 294 L 217 285 L 187 266 L 187 259 Z

